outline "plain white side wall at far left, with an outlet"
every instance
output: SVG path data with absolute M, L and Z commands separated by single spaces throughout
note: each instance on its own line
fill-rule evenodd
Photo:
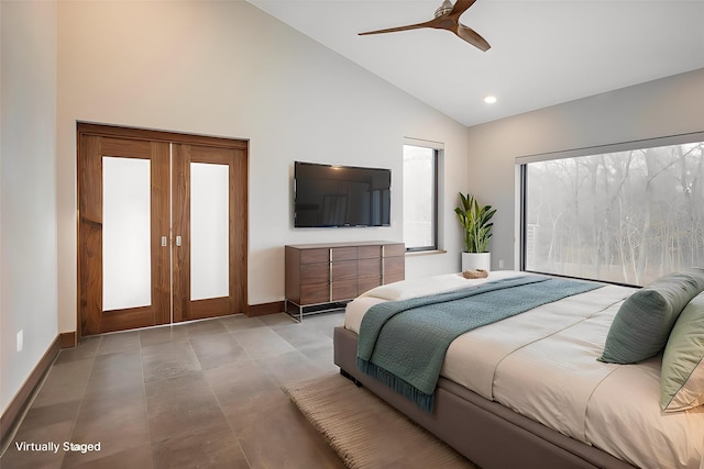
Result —
M 0 2 L 0 409 L 56 338 L 56 3 Z M 16 334 L 24 347 L 16 351 Z

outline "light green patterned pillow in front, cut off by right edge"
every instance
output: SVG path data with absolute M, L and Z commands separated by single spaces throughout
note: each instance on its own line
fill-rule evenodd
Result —
M 662 356 L 660 406 L 666 412 L 704 405 L 704 293 L 682 310 Z

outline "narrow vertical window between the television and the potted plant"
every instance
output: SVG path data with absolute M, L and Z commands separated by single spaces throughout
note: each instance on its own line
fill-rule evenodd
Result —
M 404 145 L 404 243 L 407 252 L 438 248 L 438 144 Z

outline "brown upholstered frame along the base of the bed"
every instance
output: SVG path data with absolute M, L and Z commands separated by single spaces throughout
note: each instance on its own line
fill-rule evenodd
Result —
M 334 362 L 340 371 L 484 469 L 632 468 L 442 377 L 435 411 L 428 414 L 356 368 L 356 340 L 355 333 L 336 327 Z

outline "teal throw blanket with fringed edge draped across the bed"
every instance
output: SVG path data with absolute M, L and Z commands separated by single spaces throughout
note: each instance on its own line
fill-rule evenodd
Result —
M 360 326 L 358 367 L 430 413 L 444 355 L 457 337 L 600 287 L 525 276 L 375 304 Z

